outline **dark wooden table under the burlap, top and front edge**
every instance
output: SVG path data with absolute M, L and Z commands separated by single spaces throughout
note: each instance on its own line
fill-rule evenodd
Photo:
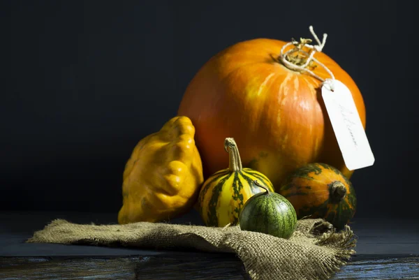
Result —
M 115 223 L 115 214 L 0 212 L 0 279 L 249 279 L 233 254 L 27 244 L 52 219 Z M 191 213 L 172 221 L 195 223 Z M 419 279 L 419 220 L 355 219 L 357 253 L 332 279 Z

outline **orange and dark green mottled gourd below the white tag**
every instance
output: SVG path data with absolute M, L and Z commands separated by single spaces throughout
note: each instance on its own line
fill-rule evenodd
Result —
M 356 196 L 351 182 L 325 163 L 298 168 L 281 185 L 279 193 L 291 202 L 298 219 L 325 219 L 340 230 L 355 214 Z

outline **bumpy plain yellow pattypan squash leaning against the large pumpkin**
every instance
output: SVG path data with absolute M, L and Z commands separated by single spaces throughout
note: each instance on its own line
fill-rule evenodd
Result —
M 159 222 L 189 211 L 203 183 L 203 167 L 188 117 L 173 117 L 146 136 L 128 159 L 119 223 Z

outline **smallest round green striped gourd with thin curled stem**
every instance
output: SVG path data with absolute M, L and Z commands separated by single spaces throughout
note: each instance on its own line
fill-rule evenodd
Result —
M 288 239 L 297 225 L 293 205 L 279 193 L 270 191 L 258 182 L 255 184 L 265 192 L 252 196 L 244 203 L 239 216 L 240 228 Z

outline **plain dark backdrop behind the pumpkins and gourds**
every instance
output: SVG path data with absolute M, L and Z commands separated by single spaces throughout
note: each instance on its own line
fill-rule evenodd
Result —
M 251 38 L 328 33 L 358 84 L 376 163 L 356 216 L 418 216 L 413 1 L 1 1 L 0 209 L 117 212 L 138 140 L 205 61 Z

